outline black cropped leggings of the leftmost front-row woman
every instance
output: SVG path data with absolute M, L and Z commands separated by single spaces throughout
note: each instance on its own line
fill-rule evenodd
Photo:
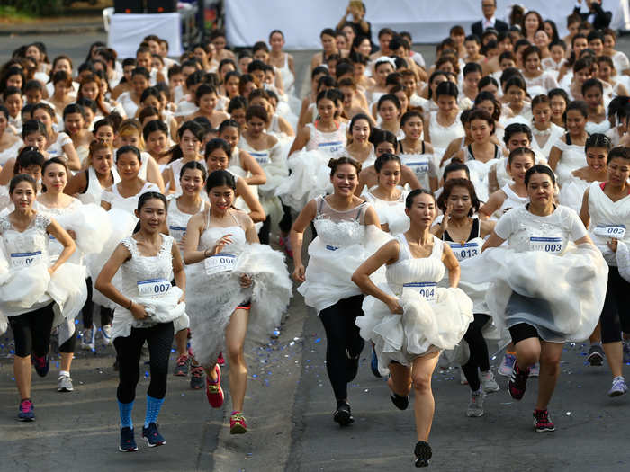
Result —
M 48 354 L 50 330 L 55 313 L 53 303 L 22 315 L 8 316 L 9 325 L 14 332 L 15 355 L 28 357 L 31 353 L 37 357 Z

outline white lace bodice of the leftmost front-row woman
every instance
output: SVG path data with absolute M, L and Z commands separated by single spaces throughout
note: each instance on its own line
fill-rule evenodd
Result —
M 42 257 L 47 257 L 49 235 L 46 233 L 46 228 L 49 224 L 50 218 L 38 212 L 31 221 L 31 225 L 21 233 L 11 224 L 9 215 L 0 217 L 0 234 L 2 234 L 7 257 L 11 254 L 38 252 L 41 252 Z

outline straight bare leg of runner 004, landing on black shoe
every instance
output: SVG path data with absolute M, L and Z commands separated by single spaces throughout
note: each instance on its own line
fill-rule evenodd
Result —
M 432 352 L 413 361 L 411 375 L 413 377 L 414 403 L 413 410 L 416 417 L 416 432 L 418 441 L 428 441 L 431 432 L 433 414 L 436 402 L 431 390 L 431 376 L 436 369 L 440 353 Z

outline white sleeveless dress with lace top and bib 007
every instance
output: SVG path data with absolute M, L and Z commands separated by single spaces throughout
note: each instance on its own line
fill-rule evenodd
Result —
M 120 285 L 116 288 L 133 303 L 142 305 L 148 317 L 136 319 L 126 307 L 117 305 L 113 311 L 112 341 L 117 337 L 127 337 L 131 328 L 148 328 L 158 323 L 168 323 L 180 316 L 186 316 L 184 302 L 180 302 L 183 291 L 171 285 L 173 280 L 174 239 L 161 235 L 162 244 L 157 255 L 146 256 L 139 253 L 138 242 L 131 236 L 121 241 L 131 254 L 122 263 Z

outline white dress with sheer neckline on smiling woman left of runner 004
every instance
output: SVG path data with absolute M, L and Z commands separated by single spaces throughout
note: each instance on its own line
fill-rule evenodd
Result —
M 380 229 L 365 227 L 364 202 L 354 209 L 338 211 L 323 196 L 315 199 L 317 216 L 313 220 L 317 237 L 309 245 L 306 281 L 298 287 L 304 303 L 320 313 L 339 300 L 360 295 L 351 280 L 356 268 L 391 238 Z

